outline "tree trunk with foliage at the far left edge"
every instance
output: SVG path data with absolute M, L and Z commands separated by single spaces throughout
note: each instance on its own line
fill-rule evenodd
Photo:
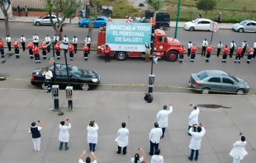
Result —
M 8 10 L 10 7 L 11 7 L 10 0 L 0 0 L 0 8 L 4 15 L 5 34 L 6 35 L 10 35 L 9 16 L 12 14 L 12 13 L 8 13 Z

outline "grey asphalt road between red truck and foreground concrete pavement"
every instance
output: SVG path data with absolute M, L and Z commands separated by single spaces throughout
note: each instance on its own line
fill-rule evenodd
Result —
M 50 54 L 48 54 L 50 56 Z M 62 56 L 59 63 L 64 63 Z M 147 86 L 106 86 L 104 84 L 147 84 L 150 73 L 150 63 L 145 63 L 143 58 L 129 58 L 126 61 L 116 61 L 112 58 L 111 63 L 105 63 L 104 59 L 97 57 L 95 53 L 89 55 L 88 62 L 83 61 L 82 52 L 78 52 L 74 56 L 73 61 L 68 61 L 79 68 L 90 69 L 100 74 L 102 86 L 97 87 L 95 91 L 147 91 Z M 216 55 L 211 57 L 210 63 L 205 63 L 205 58 L 197 55 L 195 63 L 190 63 L 189 58 L 184 58 L 184 63 L 169 63 L 160 60 L 154 65 L 155 86 L 154 91 L 172 92 L 172 93 L 192 93 L 184 87 L 188 86 L 188 79 L 192 72 L 200 72 L 205 69 L 219 69 L 230 73 L 231 75 L 240 77 L 248 81 L 252 90 L 249 93 L 256 94 L 255 82 L 255 64 L 253 59 L 250 64 L 246 63 L 243 58 L 241 63 L 234 63 L 234 58 L 227 58 L 227 63 L 221 63 L 221 58 Z M 0 81 L 2 88 L 20 88 L 20 89 L 36 89 L 31 86 L 31 72 L 36 68 L 44 68 L 48 65 L 48 61 L 43 60 L 42 63 L 36 64 L 34 60 L 29 59 L 29 55 L 21 53 L 21 58 L 16 59 L 15 56 L 7 58 L 6 63 L 2 63 L 0 59 L 0 73 L 7 77 L 24 79 Z M 168 88 L 166 86 L 173 86 Z M 182 87 L 182 88 L 181 88 Z

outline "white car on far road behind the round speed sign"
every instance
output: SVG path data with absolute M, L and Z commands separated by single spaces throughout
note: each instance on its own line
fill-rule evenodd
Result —
M 184 25 L 184 30 L 210 30 L 211 22 L 215 21 L 205 18 L 197 18 L 196 20 L 186 22 Z

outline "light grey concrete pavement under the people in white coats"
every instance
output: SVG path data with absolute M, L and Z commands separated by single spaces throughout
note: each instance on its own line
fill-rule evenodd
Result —
M 129 92 L 81 92 L 73 93 L 74 111 L 65 109 L 67 101 L 60 91 L 59 104 L 64 107 L 64 116 L 49 112 L 53 107 L 50 94 L 45 91 L 1 90 L 0 91 L 0 162 L 49 163 L 78 162 L 78 156 L 85 149 L 88 152 L 86 127 L 90 120 L 99 125 L 98 143 L 95 155 L 101 163 L 125 163 L 142 147 L 149 151 L 149 131 L 154 127 L 155 116 L 163 105 L 173 104 L 173 113 L 169 116 L 168 128 L 159 148 L 164 162 L 188 163 L 187 156 L 191 137 L 187 135 L 187 117 L 192 108 L 190 104 L 215 104 L 231 107 L 230 109 L 200 108 L 200 122 L 206 128 L 206 135 L 201 142 L 197 162 L 227 163 L 232 158 L 229 152 L 233 143 L 239 140 L 239 133 L 244 133 L 248 142 L 245 149 L 249 155 L 244 163 L 256 160 L 255 96 L 239 95 L 179 95 L 154 94 L 151 104 L 145 103 L 142 93 Z M 186 100 L 184 100 L 186 99 Z M 69 151 L 59 151 L 59 122 L 70 119 Z M 31 122 L 41 120 L 41 150 L 33 151 L 31 134 L 28 128 Z M 130 129 L 127 156 L 117 156 L 114 141 L 121 123 L 126 122 Z M 86 155 L 88 156 L 88 154 Z M 85 159 L 84 157 L 83 159 Z M 150 157 L 145 156 L 149 162 Z

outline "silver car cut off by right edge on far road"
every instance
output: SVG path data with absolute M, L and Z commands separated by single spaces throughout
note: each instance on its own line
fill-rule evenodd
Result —
M 256 32 L 256 21 L 245 20 L 236 23 L 232 29 L 238 32 Z

